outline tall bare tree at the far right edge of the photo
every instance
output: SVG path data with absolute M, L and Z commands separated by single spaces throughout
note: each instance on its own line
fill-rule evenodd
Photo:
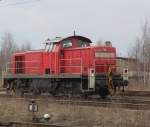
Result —
M 130 56 L 136 59 L 137 77 L 143 77 L 143 84 L 148 84 L 150 81 L 150 26 L 147 20 L 142 27 L 142 35 L 136 39 L 132 47 Z

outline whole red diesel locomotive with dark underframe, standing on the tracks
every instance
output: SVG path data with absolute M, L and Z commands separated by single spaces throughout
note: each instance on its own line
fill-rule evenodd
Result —
M 128 85 L 127 69 L 117 72 L 116 49 L 90 46 L 83 36 L 47 39 L 45 49 L 17 52 L 7 65 L 4 87 L 23 95 L 25 92 L 52 95 L 99 94 Z

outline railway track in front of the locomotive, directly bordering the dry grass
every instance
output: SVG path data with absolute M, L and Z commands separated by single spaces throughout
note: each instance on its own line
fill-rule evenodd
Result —
M 11 97 L 9 99 L 15 99 L 19 101 L 30 101 L 33 98 L 16 98 Z M 77 100 L 77 99 L 51 99 L 51 98 L 34 98 L 38 102 L 45 103 L 58 103 L 63 105 L 79 105 L 79 106 L 92 106 L 92 107 L 107 107 L 107 108 L 124 108 L 132 110 L 150 110 L 150 99 L 141 100 L 141 99 L 121 99 L 121 98 L 112 98 L 108 100 L 102 99 L 88 99 L 88 100 Z

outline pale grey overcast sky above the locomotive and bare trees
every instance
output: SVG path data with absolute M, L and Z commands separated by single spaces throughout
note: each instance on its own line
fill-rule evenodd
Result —
M 1 0 L 0 36 L 10 31 L 18 43 L 29 40 L 38 49 L 46 38 L 76 30 L 93 42 L 110 40 L 127 55 L 149 17 L 150 0 Z

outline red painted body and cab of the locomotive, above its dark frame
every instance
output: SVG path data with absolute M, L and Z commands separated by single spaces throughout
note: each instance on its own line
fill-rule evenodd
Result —
M 90 46 L 91 40 L 82 36 L 56 39 L 50 42 L 52 50 L 15 53 L 13 74 L 87 75 L 90 68 L 95 73 L 106 73 L 110 66 L 116 66 L 116 49 L 112 46 Z

